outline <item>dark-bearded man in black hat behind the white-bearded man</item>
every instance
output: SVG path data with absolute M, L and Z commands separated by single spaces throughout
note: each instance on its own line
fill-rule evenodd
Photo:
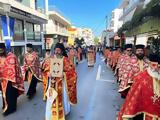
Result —
M 129 64 L 126 66 L 127 78 L 121 81 L 119 86 L 119 92 L 126 91 L 124 97 L 126 97 L 130 86 L 133 83 L 133 77 L 144 71 L 148 67 L 148 59 L 144 56 L 144 45 L 138 44 L 135 46 L 136 52 L 135 56 L 132 56 Z

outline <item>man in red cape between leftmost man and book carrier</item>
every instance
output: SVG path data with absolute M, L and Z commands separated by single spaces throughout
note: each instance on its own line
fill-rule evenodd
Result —
M 42 80 L 39 56 L 30 43 L 27 44 L 27 53 L 24 55 L 23 73 L 23 78 L 29 83 L 27 96 L 31 99 L 36 93 L 37 82 Z

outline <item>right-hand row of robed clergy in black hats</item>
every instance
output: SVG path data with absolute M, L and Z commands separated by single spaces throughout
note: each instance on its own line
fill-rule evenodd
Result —
M 117 120 L 160 120 L 159 56 L 148 54 L 142 44 L 126 44 L 123 51 L 106 47 L 104 57 L 125 98 Z

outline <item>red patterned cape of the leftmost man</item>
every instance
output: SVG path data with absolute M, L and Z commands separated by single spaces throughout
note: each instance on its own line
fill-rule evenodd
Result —
M 12 82 L 12 86 L 18 89 L 19 95 L 24 92 L 24 81 L 18 59 L 13 53 L 8 53 L 5 61 L 0 57 L 0 79 L 2 80 L 2 91 L 5 93 L 8 81 Z

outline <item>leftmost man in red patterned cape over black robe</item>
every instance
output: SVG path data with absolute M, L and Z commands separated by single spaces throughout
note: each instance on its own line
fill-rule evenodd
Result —
M 3 114 L 15 112 L 17 98 L 24 93 L 24 81 L 18 59 L 13 53 L 6 52 L 4 43 L 0 43 L 0 90 Z

